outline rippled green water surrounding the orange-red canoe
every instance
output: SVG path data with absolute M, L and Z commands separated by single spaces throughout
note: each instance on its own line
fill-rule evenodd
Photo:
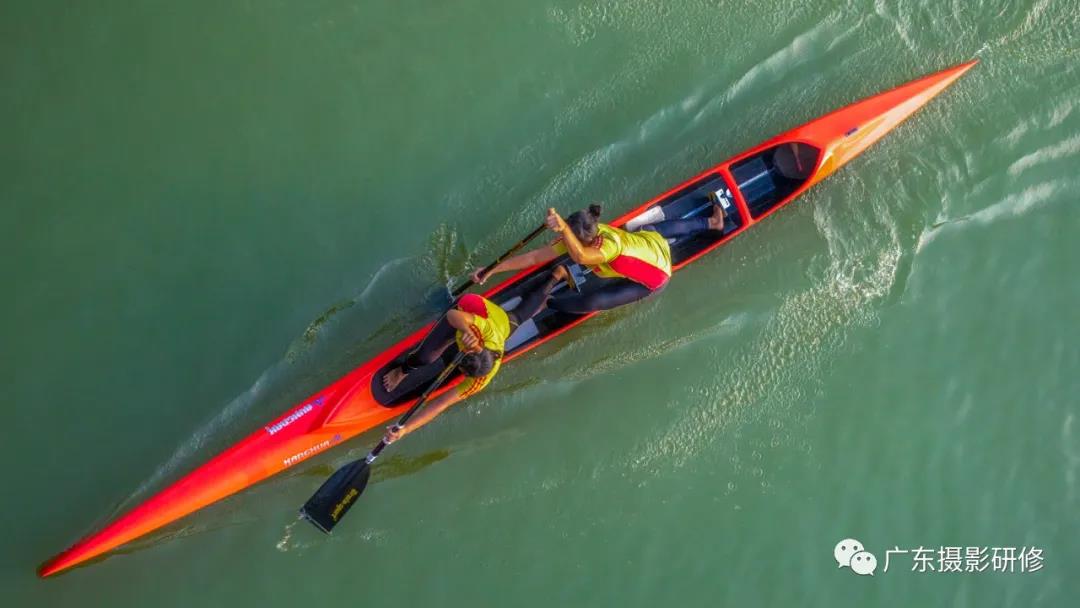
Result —
M 5 2 L 5 605 L 1075 605 L 1078 15 Z M 406 335 L 548 206 L 627 210 L 971 57 L 661 297 L 395 446 L 332 538 L 296 508 L 375 434 L 35 578 Z M 1043 568 L 859 577 L 833 559 L 846 537 L 882 566 L 892 546 L 1037 546 Z

